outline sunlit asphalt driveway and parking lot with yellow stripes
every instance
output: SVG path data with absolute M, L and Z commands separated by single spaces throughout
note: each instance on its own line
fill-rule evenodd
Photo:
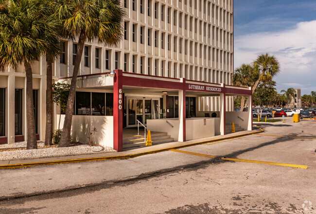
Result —
M 315 213 L 316 121 L 254 125 L 264 132 L 128 160 L 2 170 L 2 193 L 26 197 L 0 213 Z

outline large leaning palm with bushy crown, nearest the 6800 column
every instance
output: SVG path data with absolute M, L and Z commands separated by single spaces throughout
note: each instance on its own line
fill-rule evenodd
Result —
M 125 15 L 120 0 L 57 0 L 56 15 L 61 21 L 61 36 L 78 39 L 67 109 L 59 147 L 69 146 L 76 80 L 85 41 L 97 40 L 107 46 L 117 45 L 123 35 Z

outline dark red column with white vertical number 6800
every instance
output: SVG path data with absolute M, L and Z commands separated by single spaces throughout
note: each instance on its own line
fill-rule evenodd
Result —
M 113 148 L 123 151 L 123 84 L 122 70 L 116 72 L 113 79 Z

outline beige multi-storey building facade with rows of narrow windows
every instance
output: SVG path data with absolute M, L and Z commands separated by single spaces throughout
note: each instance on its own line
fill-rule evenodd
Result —
M 104 84 L 92 81 L 103 81 L 102 78 L 93 78 L 117 69 L 148 78 L 231 84 L 233 0 L 122 0 L 122 5 L 126 17 L 124 36 L 119 45 L 108 48 L 97 42 L 87 42 L 84 48 L 74 115 L 113 116 L 113 100 L 116 99 L 113 80 L 104 78 Z M 53 62 L 55 82 L 67 81 L 72 76 L 76 52 L 76 41 L 61 43 L 60 57 Z M 36 132 L 38 139 L 44 140 L 45 57 L 36 61 L 32 69 Z M 107 81 L 112 81 L 112 87 L 107 87 Z M 14 143 L 27 138 L 25 86 L 23 66 L 0 73 L 0 143 Z M 184 98 L 187 102 L 186 117 L 220 111 L 220 97 L 209 95 L 187 94 Z M 179 99 L 177 92 L 168 90 L 126 88 L 123 127 L 135 126 L 137 120 L 146 124 L 147 119 L 178 118 Z M 233 96 L 225 96 L 225 103 L 225 110 L 232 111 Z M 54 112 L 58 111 L 55 105 Z M 74 117 L 74 120 L 78 118 Z M 58 122 L 56 116 L 55 128 Z

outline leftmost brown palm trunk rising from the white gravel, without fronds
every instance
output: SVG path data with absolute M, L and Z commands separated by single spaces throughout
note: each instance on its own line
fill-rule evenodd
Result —
M 26 123 L 27 123 L 27 143 L 26 149 L 37 149 L 35 115 L 33 104 L 33 75 L 29 62 L 24 61 L 26 76 Z

